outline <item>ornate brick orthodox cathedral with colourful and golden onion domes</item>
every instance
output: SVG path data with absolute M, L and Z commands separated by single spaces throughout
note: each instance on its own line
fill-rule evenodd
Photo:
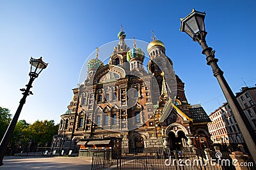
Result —
M 127 46 L 125 36 L 118 33 L 108 64 L 98 59 L 99 48 L 88 62 L 87 78 L 72 89 L 52 150 L 113 149 L 116 144 L 126 153 L 209 148 L 211 120 L 200 104 L 188 103 L 184 83 L 170 71 L 173 62 L 164 43 L 153 36 L 146 71 L 145 52 L 135 40 Z

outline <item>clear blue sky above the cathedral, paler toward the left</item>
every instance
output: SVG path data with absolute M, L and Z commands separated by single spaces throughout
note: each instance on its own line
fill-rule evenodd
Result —
M 180 32 L 179 18 L 192 8 L 205 11 L 207 43 L 231 89 L 255 85 L 255 1 L 0 1 L 0 106 L 15 113 L 20 88 L 29 80 L 29 58 L 49 66 L 34 81 L 20 119 L 60 121 L 72 100 L 84 60 L 117 39 L 120 25 L 127 38 L 151 41 L 154 30 L 185 83 L 189 103 L 207 113 L 225 102 L 218 81 L 198 43 Z

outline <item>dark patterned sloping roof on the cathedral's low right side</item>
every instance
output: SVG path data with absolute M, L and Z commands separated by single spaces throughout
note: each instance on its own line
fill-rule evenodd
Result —
M 189 114 L 191 115 L 191 118 L 193 118 L 194 123 L 211 122 L 211 119 L 208 117 L 202 106 L 190 108 Z

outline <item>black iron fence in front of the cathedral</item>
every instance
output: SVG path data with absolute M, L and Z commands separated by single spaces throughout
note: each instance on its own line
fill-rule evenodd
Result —
M 236 169 L 232 164 L 230 153 L 221 153 L 209 150 L 175 150 L 172 152 L 148 152 L 148 153 L 116 153 L 115 159 L 111 157 L 113 152 L 103 151 L 93 153 L 92 170 L 95 169 Z M 119 155 L 118 155 L 119 154 Z M 247 160 L 246 160 L 247 159 Z M 252 162 L 250 157 L 244 158 L 246 164 Z M 247 166 L 247 169 L 255 167 Z

